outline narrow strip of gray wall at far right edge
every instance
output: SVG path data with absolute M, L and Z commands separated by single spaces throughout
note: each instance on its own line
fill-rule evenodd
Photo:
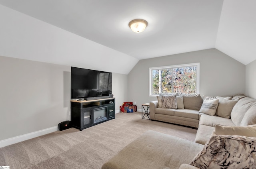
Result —
M 256 60 L 246 65 L 246 95 L 256 98 Z

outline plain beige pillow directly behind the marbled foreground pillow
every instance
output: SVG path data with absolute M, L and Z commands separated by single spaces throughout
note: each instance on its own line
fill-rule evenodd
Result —
M 247 137 L 256 137 L 256 124 L 249 126 L 215 126 L 213 135 L 238 135 Z

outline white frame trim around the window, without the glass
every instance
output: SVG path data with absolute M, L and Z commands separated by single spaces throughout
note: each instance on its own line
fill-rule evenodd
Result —
M 155 97 L 158 94 L 152 94 L 152 70 L 158 70 L 158 69 L 174 69 L 179 67 L 193 67 L 196 66 L 196 93 L 200 93 L 200 63 L 189 63 L 189 64 L 183 64 L 183 65 L 171 65 L 171 66 L 162 66 L 162 67 L 150 67 L 149 68 L 149 96 Z

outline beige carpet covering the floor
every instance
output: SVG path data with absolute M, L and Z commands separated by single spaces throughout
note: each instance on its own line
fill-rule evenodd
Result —
M 79 131 L 70 128 L 0 148 L 0 165 L 10 169 L 100 169 L 147 130 L 194 141 L 196 130 L 141 118 L 141 112 Z

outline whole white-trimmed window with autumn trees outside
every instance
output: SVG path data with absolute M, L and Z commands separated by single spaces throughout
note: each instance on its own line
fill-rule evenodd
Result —
M 191 63 L 149 68 L 150 96 L 159 93 L 199 93 L 199 65 Z

